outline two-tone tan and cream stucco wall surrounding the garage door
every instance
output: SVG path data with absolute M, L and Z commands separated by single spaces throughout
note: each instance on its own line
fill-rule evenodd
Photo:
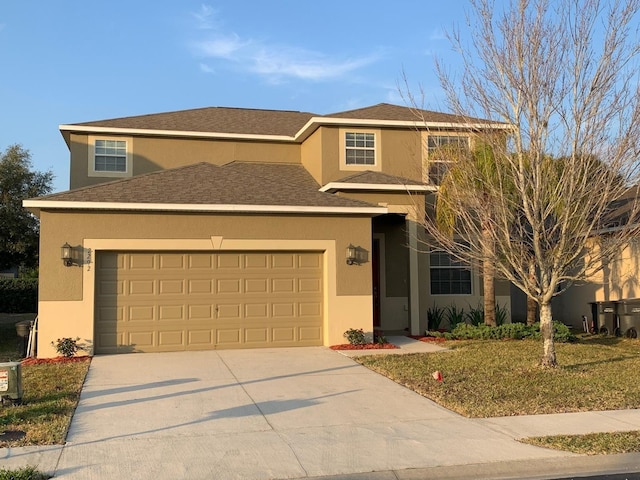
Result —
M 368 217 L 41 212 L 38 356 L 63 336 L 93 341 L 93 258 L 100 250 L 313 250 L 324 252 L 326 345 L 372 329 L 371 265 L 349 266 L 350 243 L 371 249 Z M 65 267 L 60 247 L 80 252 Z

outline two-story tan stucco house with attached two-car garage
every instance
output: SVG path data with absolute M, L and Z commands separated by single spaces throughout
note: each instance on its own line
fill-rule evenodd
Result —
M 41 222 L 38 356 L 60 337 L 93 353 L 332 345 L 477 306 L 478 275 L 417 221 L 446 169 L 429 152 L 486 128 L 504 125 L 389 104 L 61 125 L 71 190 L 24 202 Z M 497 295 L 508 308 L 508 284 Z

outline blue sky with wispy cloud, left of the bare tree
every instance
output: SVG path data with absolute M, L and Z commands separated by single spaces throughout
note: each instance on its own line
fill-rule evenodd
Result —
M 425 107 L 446 110 L 434 55 L 466 28 L 450 0 L 3 1 L 0 149 L 69 186 L 58 125 L 229 106 L 319 114 L 404 104 L 403 72 Z

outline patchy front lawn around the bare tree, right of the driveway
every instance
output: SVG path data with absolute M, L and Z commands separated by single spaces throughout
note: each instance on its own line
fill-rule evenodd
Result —
M 540 340 L 443 345 L 451 350 L 356 360 L 467 417 L 640 408 L 640 340 L 585 336 L 556 344 L 555 369 L 537 365 Z

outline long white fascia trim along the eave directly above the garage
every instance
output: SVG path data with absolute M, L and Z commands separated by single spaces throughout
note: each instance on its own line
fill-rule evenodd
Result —
M 329 213 L 372 214 L 387 213 L 386 207 L 313 207 L 294 205 L 200 205 L 184 203 L 119 203 L 75 202 L 58 200 L 23 200 L 25 208 L 64 210 L 139 210 L 171 212 L 251 212 L 251 213 Z

